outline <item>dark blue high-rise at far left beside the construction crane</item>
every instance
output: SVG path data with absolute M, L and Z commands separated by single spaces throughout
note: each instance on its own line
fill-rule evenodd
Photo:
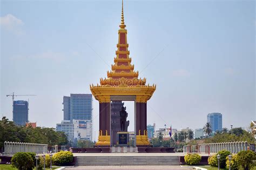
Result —
M 14 101 L 13 118 L 15 125 L 25 126 L 28 122 L 29 103 L 28 101 Z

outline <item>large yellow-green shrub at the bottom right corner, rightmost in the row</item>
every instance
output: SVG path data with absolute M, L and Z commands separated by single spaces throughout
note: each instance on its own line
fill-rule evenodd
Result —
M 252 169 L 256 164 L 256 153 L 253 151 L 240 151 L 237 154 L 237 160 L 242 168 Z

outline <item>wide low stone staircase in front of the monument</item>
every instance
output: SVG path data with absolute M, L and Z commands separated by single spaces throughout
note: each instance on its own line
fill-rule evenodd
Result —
M 180 165 L 178 156 L 78 156 L 76 166 Z

